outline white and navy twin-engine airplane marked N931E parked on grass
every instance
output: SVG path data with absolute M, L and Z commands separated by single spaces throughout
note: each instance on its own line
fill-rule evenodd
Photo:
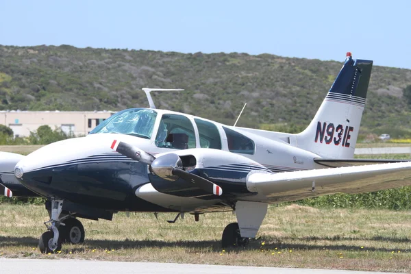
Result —
M 8 172 L 48 199 L 40 251 L 84 241 L 76 217 L 111 220 L 119 211 L 190 213 L 198 220 L 235 210 L 238 223 L 225 227 L 222 244 L 243 246 L 256 237 L 270 203 L 411 185 L 411 162 L 353 160 L 372 65 L 347 53 L 300 134 L 157 110 L 146 88 L 150 108 L 123 110 L 86 137 L 19 156 Z

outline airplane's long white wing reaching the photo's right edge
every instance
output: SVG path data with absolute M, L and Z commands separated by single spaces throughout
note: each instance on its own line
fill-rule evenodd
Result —
M 313 169 L 287 173 L 250 173 L 249 191 L 260 201 L 295 201 L 338 192 L 362 193 L 411 185 L 411 162 Z

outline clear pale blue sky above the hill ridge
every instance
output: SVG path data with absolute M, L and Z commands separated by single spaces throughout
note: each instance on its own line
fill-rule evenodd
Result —
M 411 69 L 411 1 L 0 1 L 0 45 L 245 52 Z

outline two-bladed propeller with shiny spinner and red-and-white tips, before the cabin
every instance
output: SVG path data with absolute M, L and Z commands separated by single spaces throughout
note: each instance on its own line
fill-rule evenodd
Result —
M 167 153 L 155 158 L 153 155 L 129 145 L 125 142 L 114 140 L 111 148 L 133 160 L 148 164 L 151 171 L 169 181 L 175 181 L 179 177 L 197 186 L 198 188 L 216 196 L 223 194 L 223 189 L 220 186 L 214 184 L 208 179 L 184 171 L 182 159 L 175 153 Z

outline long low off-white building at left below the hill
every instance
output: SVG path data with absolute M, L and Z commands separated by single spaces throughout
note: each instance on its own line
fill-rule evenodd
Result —
M 62 129 L 66 134 L 87 135 L 99 123 L 108 119 L 115 112 L 60 112 L 56 111 L 0 111 L 0 124 L 13 129 L 14 136 L 29 136 L 40 125 L 49 125 L 51 129 Z

